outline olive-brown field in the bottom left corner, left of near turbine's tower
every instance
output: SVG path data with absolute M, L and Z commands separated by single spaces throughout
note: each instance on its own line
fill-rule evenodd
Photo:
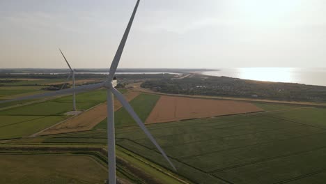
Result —
M 0 183 L 103 183 L 107 169 L 81 155 L 0 155 Z

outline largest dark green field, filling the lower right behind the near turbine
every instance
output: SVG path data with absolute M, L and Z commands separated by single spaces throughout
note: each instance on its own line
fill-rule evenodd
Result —
M 195 183 L 309 183 L 326 178 L 326 109 L 309 107 L 148 125 Z M 45 142 L 105 143 L 105 131 L 61 135 Z M 170 168 L 137 126 L 118 128 L 116 143 Z M 228 182 L 226 182 L 228 181 Z

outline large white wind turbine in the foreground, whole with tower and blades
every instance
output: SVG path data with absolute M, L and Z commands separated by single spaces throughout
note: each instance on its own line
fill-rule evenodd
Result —
M 167 162 L 171 165 L 171 167 L 176 171 L 176 167 L 174 167 L 171 160 L 168 158 L 168 156 L 164 153 L 163 149 L 159 144 L 157 144 L 157 141 L 155 141 L 154 137 L 150 134 L 146 126 L 143 124 L 139 116 L 134 112 L 134 109 L 132 109 L 131 105 L 127 100 L 125 100 L 125 97 L 123 94 L 121 94 L 117 89 L 114 87 L 116 86 L 116 80 L 114 80 L 114 74 L 116 72 L 116 68 L 118 68 L 118 63 L 121 59 L 121 55 L 123 53 L 123 48 L 125 47 L 125 43 L 127 41 L 128 34 L 130 32 L 132 22 L 134 20 L 134 16 L 136 15 L 137 8 L 139 6 L 139 1 L 137 0 L 136 6 L 134 7 L 134 11 L 132 13 L 132 16 L 130 17 L 130 21 L 127 24 L 127 28 L 125 29 L 125 33 L 123 34 L 123 38 L 121 40 L 121 43 L 118 47 L 118 50 L 116 51 L 116 55 L 114 56 L 114 59 L 111 63 L 111 67 L 109 69 L 109 77 L 106 81 L 101 82 L 99 84 L 89 84 L 85 86 L 78 86 L 75 87 L 75 89 L 63 89 L 61 91 L 54 91 L 52 93 L 43 93 L 39 95 L 31 95 L 26 96 L 22 98 L 15 98 L 11 100 L 3 100 L 0 101 L 0 103 L 3 102 L 12 102 L 12 101 L 18 101 L 18 100 L 29 100 L 34 98 L 44 98 L 44 97 L 52 97 L 56 95 L 65 95 L 70 93 L 81 93 L 85 91 L 91 91 L 95 89 L 100 89 L 102 87 L 107 89 L 107 153 L 108 153 L 108 162 L 109 162 L 109 184 L 116 184 L 116 151 L 115 151 L 115 134 L 114 134 L 114 96 L 116 96 L 117 100 L 121 102 L 123 107 L 127 110 L 127 112 L 134 118 L 134 121 L 137 122 L 141 130 L 146 134 L 148 139 L 152 141 L 152 143 L 156 146 L 158 151 L 163 155 L 163 157 L 166 159 Z

